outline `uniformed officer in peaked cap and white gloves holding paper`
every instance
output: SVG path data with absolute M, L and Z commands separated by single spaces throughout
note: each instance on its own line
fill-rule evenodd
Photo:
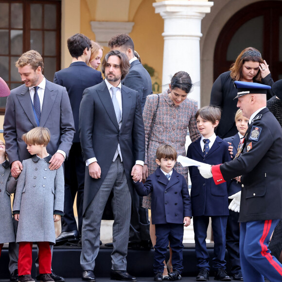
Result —
M 216 184 L 241 177 L 242 195 L 231 197 L 229 209 L 240 211 L 240 258 L 244 281 L 282 281 L 282 264 L 270 254 L 270 236 L 282 218 L 282 128 L 266 107 L 269 86 L 235 81 L 237 106 L 249 119 L 242 155 L 200 174 Z M 240 204 L 241 197 L 241 204 Z

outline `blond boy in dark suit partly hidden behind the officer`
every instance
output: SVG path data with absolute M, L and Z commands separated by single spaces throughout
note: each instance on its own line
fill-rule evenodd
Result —
M 240 109 L 237 110 L 235 115 L 235 123 L 238 130 L 232 137 L 225 138 L 224 141 L 229 142 L 233 146 L 233 156 L 239 157 L 240 148 L 237 156 L 237 148 L 240 141 L 244 138 L 244 135 L 248 128 L 248 121 L 246 117 L 243 116 Z M 241 191 L 241 177 L 236 177 L 227 182 L 228 196 L 236 194 Z M 229 203 L 231 199 L 229 199 Z M 240 264 L 240 250 L 239 250 L 239 240 L 240 240 L 240 224 L 239 212 L 234 212 L 229 210 L 229 216 L 227 219 L 226 227 L 226 248 L 229 254 L 229 262 L 231 264 L 231 274 L 233 275 L 233 280 L 243 281 L 241 264 Z

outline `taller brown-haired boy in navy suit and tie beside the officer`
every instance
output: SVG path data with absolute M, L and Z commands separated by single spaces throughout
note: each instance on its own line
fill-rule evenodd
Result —
M 197 128 L 202 135 L 188 147 L 187 157 L 211 165 L 231 160 L 229 144 L 214 134 L 220 121 L 220 109 L 212 106 L 200 108 L 196 115 Z M 192 182 L 191 203 L 195 234 L 195 249 L 199 275 L 196 281 L 209 280 L 209 254 L 206 246 L 207 229 L 212 218 L 214 240 L 214 279 L 230 281 L 226 273 L 225 244 L 228 210 L 227 185 L 215 185 L 212 178 L 205 179 L 196 166 L 189 166 Z

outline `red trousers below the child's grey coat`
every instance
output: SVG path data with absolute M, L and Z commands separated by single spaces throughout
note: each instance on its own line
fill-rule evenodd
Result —
M 18 248 L 18 275 L 31 275 L 33 242 L 20 242 Z M 49 242 L 37 242 L 39 274 L 51 273 L 52 254 Z

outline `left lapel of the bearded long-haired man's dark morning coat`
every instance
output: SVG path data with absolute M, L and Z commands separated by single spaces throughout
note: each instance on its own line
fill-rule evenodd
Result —
M 102 83 L 102 88 L 97 90 L 97 93 L 111 122 L 114 124 L 117 130 L 120 131 L 111 95 L 105 81 Z

